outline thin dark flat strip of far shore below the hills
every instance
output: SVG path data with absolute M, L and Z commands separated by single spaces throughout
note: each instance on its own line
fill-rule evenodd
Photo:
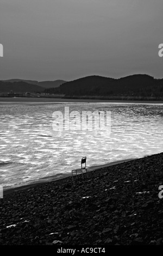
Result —
M 5 104 L 54 104 L 54 103 L 89 103 L 89 102 L 97 102 L 97 103 L 140 103 L 140 104 L 163 104 L 163 101 L 155 101 L 155 100 L 99 100 L 99 99 L 64 99 L 64 98 L 45 98 L 45 97 L 0 97 L 0 105 Z

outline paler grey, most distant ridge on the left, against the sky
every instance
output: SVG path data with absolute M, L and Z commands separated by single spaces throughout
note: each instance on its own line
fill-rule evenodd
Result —
M 55 80 L 55 81 L 35 81 L 35 80 L 23 80 L 23 79 L 9 79 L 9 80 L 2 80 L 3 82 L 25 82 L 25 83 L 30 83 L 30 84 L 36 84 L 37 86 L 41 86 L 43 88 L 55 88 L 59 87 L 62 83 L 65 83 L 66 81 L 64 80 Z

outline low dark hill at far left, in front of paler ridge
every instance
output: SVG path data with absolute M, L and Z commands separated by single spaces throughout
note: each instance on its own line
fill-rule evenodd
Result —
M 14 93 L 34 93 L 34 92 L 43 92 L 45 88 L 37 86 L 36 84 L 30 84 L 26 82 L 3 82 L 0 81 L 0 92 L 10 92 L 12 90 Z

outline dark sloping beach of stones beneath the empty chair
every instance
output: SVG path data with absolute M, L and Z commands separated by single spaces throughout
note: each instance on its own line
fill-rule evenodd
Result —
M 163 153 L 9 193 L 0 245 L 163 245 L 160 185 Z

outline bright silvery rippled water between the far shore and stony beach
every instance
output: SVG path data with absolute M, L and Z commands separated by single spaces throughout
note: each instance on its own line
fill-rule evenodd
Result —
M 111 111 L 111 135 L 91 131 L 54 132 L 52 114 Z M 87 166 L 163 151 L 163 105 L 58 103 L 0 105 L 0 185 L 14 187 L 70 173 L 87 156 Z

